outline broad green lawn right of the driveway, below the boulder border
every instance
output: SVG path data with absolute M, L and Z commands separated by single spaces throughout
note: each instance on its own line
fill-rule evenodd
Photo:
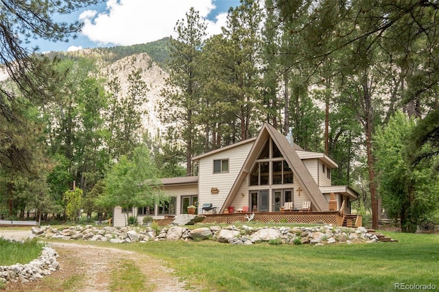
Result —
M 439 236 L 384 232 L 399 243 L 239 246 L 139 243 L 123 248 L 166 260 L 205 291 L 394 291 L 395 283 L 439 289 Z

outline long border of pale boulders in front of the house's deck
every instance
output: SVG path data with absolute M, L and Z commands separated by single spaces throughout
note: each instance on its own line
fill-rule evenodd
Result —
M 151 227 L 122 227 L 115 228 L 106 226 L 98 228 L 95 226 L 71 226 L 61 230 L 51 226 L 41 228 L 32 227 L 36 237 L 43 239 L 62 240 L 86 240 L 86 241 L 107 241 L 110 243 L 146 243 L 148 241 L 203 241 L 213 240 L 219 243 L 230 243 L 236 245 L 252 245 L 254 243 L 269 242 L 273 244 L 311 244 L 327 245 L 334 243 L 373 243 L 379 241 L 375 234 L 371 234 L 364 227 L 346 228 L 327 226 L 315 227 L 258 227 L 242 226 L 237 228 L 230 225 L 211 226 L 189 229 L 185 226 L 171 226 L 161 230 L 154 230 Z

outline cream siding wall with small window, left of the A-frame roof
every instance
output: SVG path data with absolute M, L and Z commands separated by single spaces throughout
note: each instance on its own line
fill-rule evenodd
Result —
M 211 203 L 218 208 L 217 210 L 222 207 L 251 147 L 252 143 L 246 143 L 229 151 L 222 151 L 200 159 L 198 181 L 200 193 L 198 199 L 201 205 Z M 220 159 L 228 159 L 229 171 L 227 173 L 213 173 L 213 160 Z M 211 188 L 217 188 L 219 193 L 212 194 Z

